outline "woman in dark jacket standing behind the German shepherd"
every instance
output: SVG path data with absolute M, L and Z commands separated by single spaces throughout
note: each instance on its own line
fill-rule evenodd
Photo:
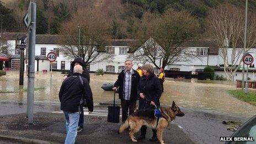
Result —
M 143 76 L 138 83 L 138 95 L 140 97 L 138 109 L 156 109 L 160 107 L 159 99 L 162 94 L 161 83 L 154 74 L 153 67 L 150 64 L 142 66 Z M 146 136 L 147 127 L 141 127 L 141 136 L 138 140 L 142 140 Z M 157 141 L 157 131 L 153 130 L 153 136 L 150 141 Z

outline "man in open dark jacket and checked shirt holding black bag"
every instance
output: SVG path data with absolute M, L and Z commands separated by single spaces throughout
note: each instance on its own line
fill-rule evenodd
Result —
M 125 61 L 125 70 L 118 75 L 118 80 L 114 84 L 113 90 L 119 87 L 119 99 L 121 99 L 122 122 L 127 119 L 129 114 L 134 113 L 137 100 L 137 86 L 140 75 L 132 69 L 132 61 Z

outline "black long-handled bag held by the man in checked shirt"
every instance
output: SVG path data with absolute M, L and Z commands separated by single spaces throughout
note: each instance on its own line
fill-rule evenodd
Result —
M 120 106 L 115 106 L 115 91 L 114 91 L 114 105 L 108 106 L 108 122 L 119 123 Z

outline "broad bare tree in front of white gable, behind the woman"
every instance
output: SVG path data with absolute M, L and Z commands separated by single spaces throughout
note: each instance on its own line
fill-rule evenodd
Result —
M 167 10 L 163 15 L 145 13 L 137 33 L 137 49 L 130 58 L 151 62 L 157 68 L 164 68 L 175 62 L 188 61 L 196 57 L 183 44 L 193 38 L 199 29 L 198 21 L 188 12 Z

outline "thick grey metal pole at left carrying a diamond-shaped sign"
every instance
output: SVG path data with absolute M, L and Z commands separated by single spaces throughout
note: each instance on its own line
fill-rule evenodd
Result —
M 34 111 L 34 78 L 35 78 L 35 30 L 36 30 L 36 1 L 31 2 L 31 33 L 29 36 L 29 74 L 28 74 L 28 124 L 33 124 Z

